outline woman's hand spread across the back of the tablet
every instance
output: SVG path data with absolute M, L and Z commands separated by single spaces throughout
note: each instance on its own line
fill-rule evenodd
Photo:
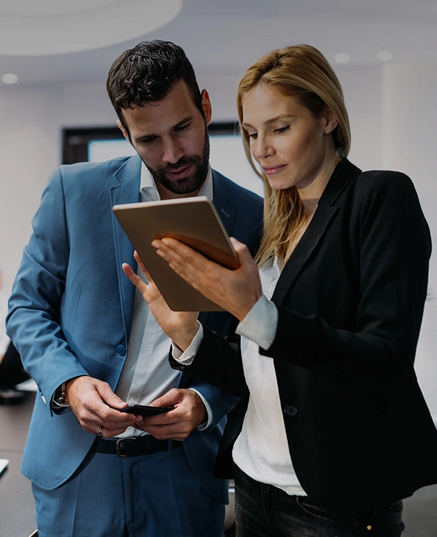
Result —
M 241 321 L 262 294 L 258 268 L 248 247 L 231 237 L 240 267 L 229 270 L 176 239 L 155 239 L 152 246 L 189 285 Z

